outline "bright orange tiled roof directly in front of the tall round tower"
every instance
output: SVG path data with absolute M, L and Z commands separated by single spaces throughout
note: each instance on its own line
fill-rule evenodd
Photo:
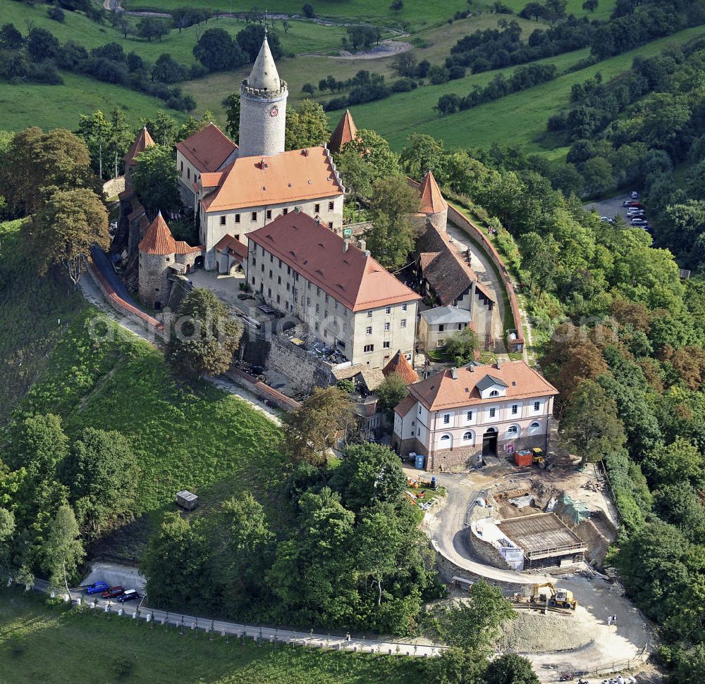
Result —
M 206 211 L 291 204 L 344 192 L 323 146 L 238 158 L 223 169 L 220 178 L 207 174 L 199 182 L 203 187 L 217 185 L 214 192 L 201 200 Z

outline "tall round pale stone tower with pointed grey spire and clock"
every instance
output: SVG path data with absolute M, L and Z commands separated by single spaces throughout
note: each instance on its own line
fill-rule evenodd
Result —
M 264 40 L 250 75 L 240 85 L 240 152 L 238 157 L 267 156 L 284 151 L 286 81 L 279 78 Z

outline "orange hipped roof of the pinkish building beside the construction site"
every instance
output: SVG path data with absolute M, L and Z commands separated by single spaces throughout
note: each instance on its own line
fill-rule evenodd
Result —
M 453 372 L 457 376 L 455 379 Z M 488 375 L 498 378 L 507 385 L 505 397 L 482 399 L 477 384 Z M 448 369 L 411 385 L 409 392 L 410 396 L 415 397 L 429 411 L 472 406 L 472 404 L 489 404 L 504 399 L 548 397 L 558 394 L 556 387 L 553 387 L 543 375 L 534 371 L 534 368 L 525 361 L 507 361 L 501 363 L 499 368 L 492 365 Z

